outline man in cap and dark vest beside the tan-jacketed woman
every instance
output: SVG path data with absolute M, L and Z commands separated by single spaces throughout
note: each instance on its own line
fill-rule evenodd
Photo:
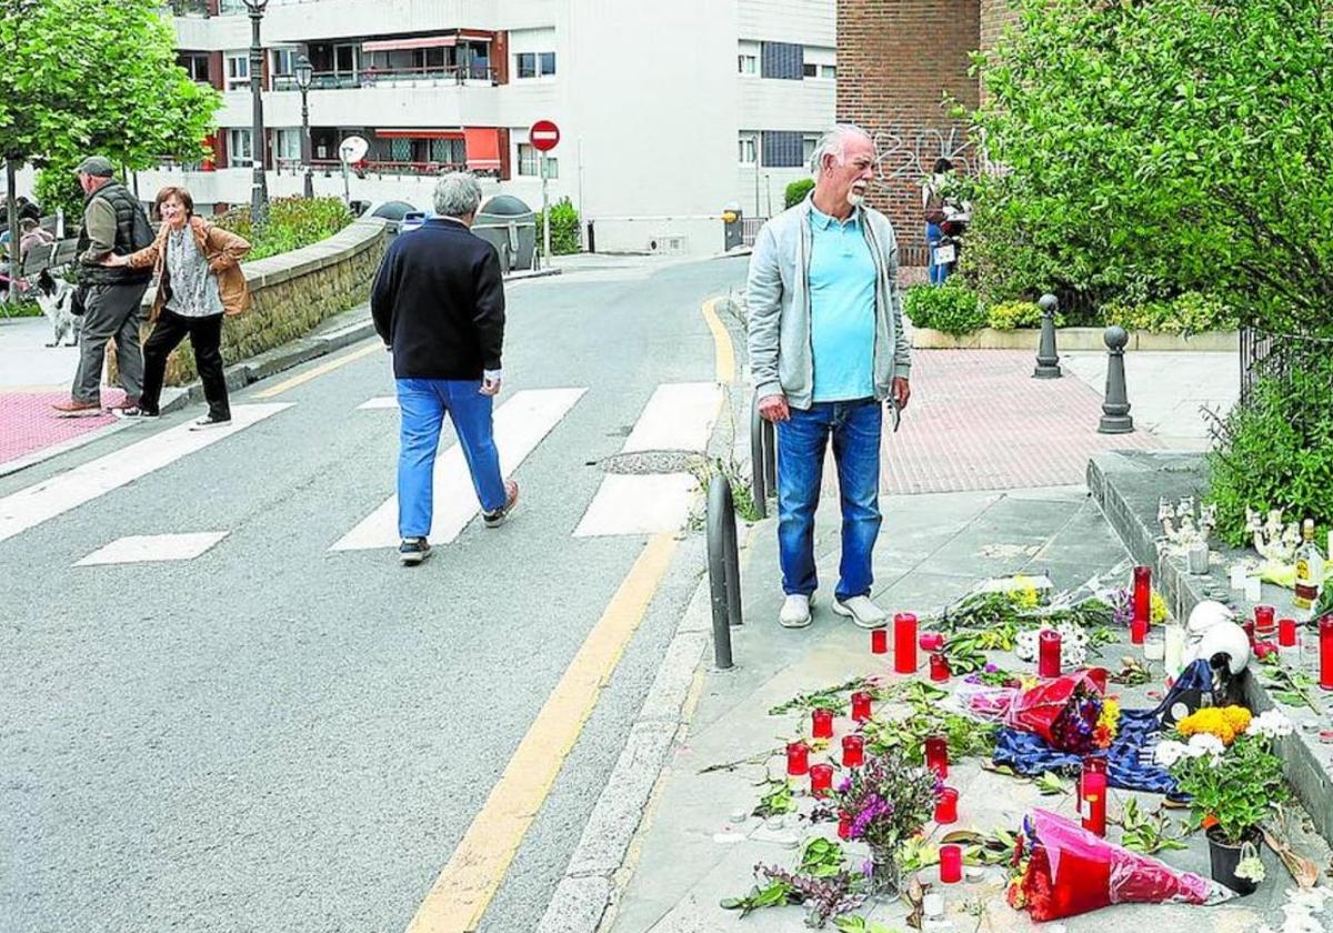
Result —
M 84 292 L 84 325 L 79 341 L 79 369 L 69 401 L 55 405 L 60 417 L 101 412 L 101 367 L 107 341 L 116 339 L 123 408 L 139 405 L 144 388 L 144 353 L 139 341 L 140 304 L 152 269 L 103 265 L 109 256 L 128 256 L 153 241 L 148 215 L 129 191 L 112 176 L 111 163 L 89 156 L 79 165 L 84 189 L 84 223 L 79 233 L 79 288 Z

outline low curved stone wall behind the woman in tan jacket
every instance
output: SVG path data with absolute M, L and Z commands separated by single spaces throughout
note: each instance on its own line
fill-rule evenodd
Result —
M 232 365 L 304 337 L 324 319 L 364 303 L 388 243 L 384 221 L 359 220 L 321 243 L 244 263 L 253 304 L 223 325 L 224 363 Z M 145 316 L 151 307 L 152 289 L 144 297 Z M 196 379 L 195 355 L 185 340 L 167 363 L 167 385 Z

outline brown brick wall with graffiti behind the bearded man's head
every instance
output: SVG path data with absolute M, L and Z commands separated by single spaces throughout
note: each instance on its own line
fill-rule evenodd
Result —
M 838 0 L 837 119 L 876 137 L 880 181 L 872 203 L 888 213 L 904 265 L 925 265 L 921 177 L 940 156 L 973 167 L 966 125 L 941 105 L 948 92 L 978 100 L 968 55 L 981 47 L 1005 0 Z

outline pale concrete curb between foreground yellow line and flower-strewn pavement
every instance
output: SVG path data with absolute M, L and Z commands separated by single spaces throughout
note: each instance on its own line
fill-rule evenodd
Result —
M 705 577 L 694 588 L 625 748 L 537 925 L 543 933 L 596 933 L 601 925 L 617 892 L 613 876 L 625 861 L 666 756 L 685 724 L 685 698 L 710 630 Z

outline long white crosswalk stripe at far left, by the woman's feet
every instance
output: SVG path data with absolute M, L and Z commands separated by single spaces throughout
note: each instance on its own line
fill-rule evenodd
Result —
M 5 496 L 0 498 L 0 541 L 76 509 L 84 502 L 91 502 L 196 451 L 203 451 L 285 408 L 291 408 L 291 404 L 236 405 L 232 408 L 232 423 L 225 428 L 191 431 L 189 424 L 168 428 Z

